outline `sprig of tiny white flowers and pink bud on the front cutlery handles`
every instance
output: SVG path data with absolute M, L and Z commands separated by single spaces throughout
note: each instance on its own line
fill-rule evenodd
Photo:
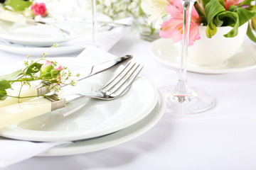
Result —
M 55 44 L 53 47 L 56 47 Z M 60 94 L 61 86 L 67 81 L 71 86 L 77 84 L 75 77 L 80 77 L 80 74 L 73 75 L 68 67 L 63 67 L 58 62 L 50 60 L 50 57 L 46 57 L 47 53 L 43 53 L 36 58 L 36 60 L 27 60 L 24 62 L 25 68 L 19 69 L 16 72 L 7 74 L 0 77 L 0 100 L 6 99 L 9 95 L 6 90 L 12 89 L 12 86 L 19 83 L 21 89 L 23 86 L 31 86 L 33 81 L 43 82 L 43 86 L 47 86 L 48 91 L 43 96 L 48 94 Z M 36 96 L 21 97 L 21 89 L 18 96 L 9 96 L 13 98 L 30 98 Z

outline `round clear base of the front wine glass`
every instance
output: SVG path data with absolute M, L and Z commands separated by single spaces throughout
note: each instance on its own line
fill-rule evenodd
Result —
M 195 114 L 203 113 L 215 106 L 215 99 L 202 89 L 191 88 L 191 95 L 174 94 L 175 86 L 161 88 L 166 98 L 166 113 Z

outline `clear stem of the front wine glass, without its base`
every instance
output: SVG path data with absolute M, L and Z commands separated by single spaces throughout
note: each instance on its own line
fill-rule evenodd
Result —
M 191 90 L 188 87 L 187 74 L 187 58 L 188 58 L 188 37 L 189 26 L 191 21 L 191 11 L 194 1 L 181 0 L 183 6 L 183 34 L 181 41 L 181 69 L 179 74 L 178 84 L 176 85 L 176 94 L 189 96 Z

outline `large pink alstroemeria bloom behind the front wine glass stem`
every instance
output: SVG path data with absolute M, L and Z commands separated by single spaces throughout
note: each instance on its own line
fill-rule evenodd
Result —
M 162 38 L 171 38 L 174 42 L 179 42 L 183 34 L 183 8 L 180 0 L 174 0 L 167 7 L 167 12 L 171 14 L 169 21 L 161 25 L 159 35 Z M 200 33 L 198 26 L 200 25 L 201 18 L 198 15 L 196 8 L 193 6 L 191 12 L 191 23 L 189 29 L 188 45 L 193 45 L 195 40 L 199 40 Z

